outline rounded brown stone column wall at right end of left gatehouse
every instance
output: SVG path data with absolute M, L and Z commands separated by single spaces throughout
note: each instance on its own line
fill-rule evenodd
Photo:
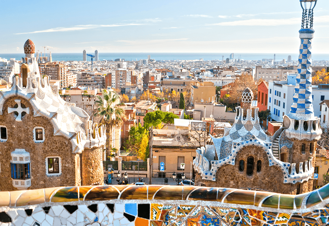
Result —
M 104 183 L 102 151 L 103 146 L 85 148 L 82 152 L 83 185 L 102 185 Z

